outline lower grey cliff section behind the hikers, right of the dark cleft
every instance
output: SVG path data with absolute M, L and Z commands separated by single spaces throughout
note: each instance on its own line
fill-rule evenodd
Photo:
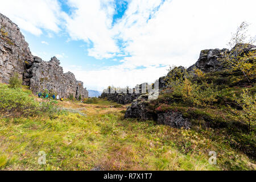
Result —
M 88 97 L 83 82 L 77 81 L 75 75 L 71 72 L 63 73 L 60 61 L 56 57 L 52 57 L 49 62 L 36 57 L 36 61 L 30 69 L 32 73 L 30 89 L 34 93 L 47 89 L 59 94 L 60 97 L 69 97 L 70 94 L 76 99 L 79 99 L 79 96 L 81 98 Z

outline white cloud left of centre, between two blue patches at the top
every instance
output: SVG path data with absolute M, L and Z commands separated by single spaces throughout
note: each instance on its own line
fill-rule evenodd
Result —
M 71 16 L 66 17 L 66 27 L 72 40 L 84 40 L 93 47 L 88 55 L 97 59 L 110 58 L 119 51 L 115 44 L 112 26 L 114 1 L 68 0 L 75 8 Z

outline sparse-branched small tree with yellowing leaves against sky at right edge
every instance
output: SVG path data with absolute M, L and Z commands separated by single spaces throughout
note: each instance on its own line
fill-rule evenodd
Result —
M 242 22 L 237 31 L 232 34 L 228 45 L 230 52 L 225 52 L 220 58 L 228 66 L 228 71 L 241 71 L 248 82 L 256 76 L 256 51 L 244 52 L 255 38 L 246 35 L 249 24 Z

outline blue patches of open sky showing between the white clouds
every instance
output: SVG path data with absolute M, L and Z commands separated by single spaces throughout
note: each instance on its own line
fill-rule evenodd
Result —
M 72 7 L 69 7 L 67 1 L 59 0 L 61 10 L 71 15 Z M 127 9 L 127 1 L 115 0 L 115 13 L 113 15 L 113 23 L 121 19 Z M 65 30 L 61 30 L 58 34 L 48 35 L 47 31 L 43 31 L 40 36 L 30 34 L 24 31 L 26 41 L 30 45 L 31 52 L 34 55 L 42 57 L 43 60 L 48 61 L 52 56 L 56 56 L 61 60 L 63 67 L 74 67 L 84 71 L 92 69 L 102 69 L 104 67 L 119 65 L 120 60 L 124 56 L 114 56 L 110 59 L 102 58 L 96 59 L 93 56 L 88 56 L 87 49 L 93 47 L 93 42 L 85 43 L 83 40 L 71 40 Z M 119 47 L 122 47 L 122 41 L 117 41 Z M 74 63 L 74 64 L 71 64 Z

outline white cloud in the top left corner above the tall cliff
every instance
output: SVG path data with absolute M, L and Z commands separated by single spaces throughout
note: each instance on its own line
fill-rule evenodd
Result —
M 61 12 L 57 0 L 0 0 L 0 13 L 6 15 L 20 28 L 34 35 L 46 31 L 59 32 Z

